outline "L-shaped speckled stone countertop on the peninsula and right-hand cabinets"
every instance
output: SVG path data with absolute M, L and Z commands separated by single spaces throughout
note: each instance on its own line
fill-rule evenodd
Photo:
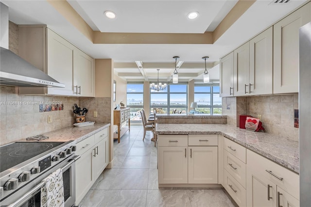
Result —
M 156 134 L 222 134 L 226 138 L 299 173 L 299 143 L 264 132 L 226 124 L 157 124 Z

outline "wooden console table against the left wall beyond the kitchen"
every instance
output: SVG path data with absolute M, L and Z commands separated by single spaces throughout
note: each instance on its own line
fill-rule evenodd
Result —
M 130 130 L 130 118 L 130 108 L 121 108 L 113 111 L 113 125 L 118 126 L 118 132 L 113 134 L 113 138 L 118 139 L 118 143 L 120 143 L 120 137 Z M 128 120 L 128 127 L 121 128 L 121 125 L 126 122 L 126 120 Z

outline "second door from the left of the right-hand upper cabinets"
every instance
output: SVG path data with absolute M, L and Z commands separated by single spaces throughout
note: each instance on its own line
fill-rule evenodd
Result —
M 249 94 L 249 42 L 234 51 L 233 94 Z

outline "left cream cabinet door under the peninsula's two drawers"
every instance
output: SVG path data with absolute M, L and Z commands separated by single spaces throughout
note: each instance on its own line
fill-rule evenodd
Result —
M 158 147 L 158 183 L 188 183 L 188 147 Z

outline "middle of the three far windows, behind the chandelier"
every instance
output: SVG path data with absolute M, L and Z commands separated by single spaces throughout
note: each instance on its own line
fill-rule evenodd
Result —
M 162 91 L 150 90 L 150 111 L 162 109 L 163 113 L 172 113 L 173 109 L 187 112 L 188 84 L 167 85 Z

